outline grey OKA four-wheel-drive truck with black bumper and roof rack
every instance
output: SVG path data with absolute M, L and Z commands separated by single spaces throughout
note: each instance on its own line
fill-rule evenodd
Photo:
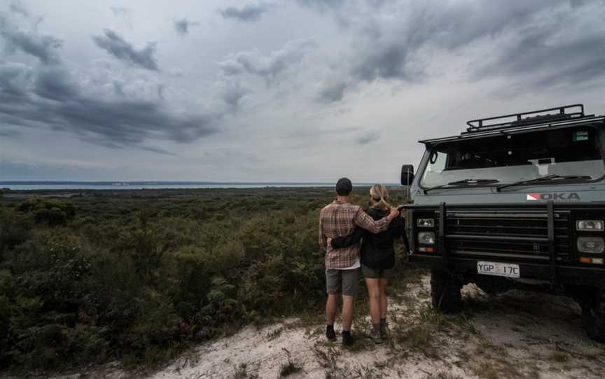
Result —
M 461 286 L 563 292 L 605 342 L 605 117 L 584 106 L 468 121 L 420 141 L 408 185 L 410 259 L 431 267 L 433 306 L 461 307 Z

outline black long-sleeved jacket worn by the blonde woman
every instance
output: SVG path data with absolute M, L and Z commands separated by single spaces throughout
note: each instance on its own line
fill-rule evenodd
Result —
M 366 213 L 374 220 L 380 220 L 382 217 L 387 216 L 389 211 L 370 207 L 366 209 Z M 361 238 L 363 238 L 360 250 L 361 264 L 375 270 L 392 269 L 395 266 L 393 241 L 396 238 L 405 236 L 404 229 L 405 221 L 403 218 L 395 217 L 391 221 L 391 224 L 389 224 L 389 228 L 385 231 L 373 234 L 365 229 L 356 227 L 355 231 L 348 236 L 333 238 L 332 247 L 344 248 L 359 243 Z M 407 243 L 407 238 L 404 238 L 404 241 Z

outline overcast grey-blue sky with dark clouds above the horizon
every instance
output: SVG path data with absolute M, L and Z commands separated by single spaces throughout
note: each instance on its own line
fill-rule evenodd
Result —
M 605 1 L 0 1 L 0 180 L 398 180 L 419 139 L 584 103 Z

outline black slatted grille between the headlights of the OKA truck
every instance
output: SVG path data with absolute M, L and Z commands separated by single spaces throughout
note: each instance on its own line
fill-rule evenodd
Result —
M 515 261 L 550 259 L 545 210 L 448 210 L 446 220 L 445 248 L 450 255 Z M 571 262 L 570 230 L 570 212 L 556 211 L 555 254 L 559 262 Z

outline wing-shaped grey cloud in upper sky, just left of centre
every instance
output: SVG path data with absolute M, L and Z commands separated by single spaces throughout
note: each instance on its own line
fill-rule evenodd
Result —
M 298 64 L 312 44 L 313 41 L 310 40 L 289 41 L 280 50 L 266 56 L 258 51 L 237 52 L 218 65 L 225 76 L 251 73 L 272 80 L 289 67 Z

